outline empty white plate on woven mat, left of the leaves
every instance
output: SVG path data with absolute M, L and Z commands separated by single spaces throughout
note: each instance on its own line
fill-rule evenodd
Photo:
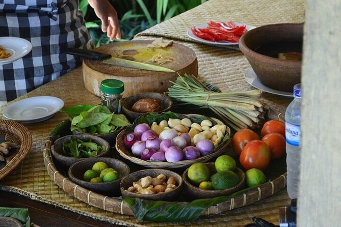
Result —
M 63 106 L 60 98 L 37 96 L 12 103 L 4 109 L 3 115 L 21 123 L 36 123 L 51 118 Z

